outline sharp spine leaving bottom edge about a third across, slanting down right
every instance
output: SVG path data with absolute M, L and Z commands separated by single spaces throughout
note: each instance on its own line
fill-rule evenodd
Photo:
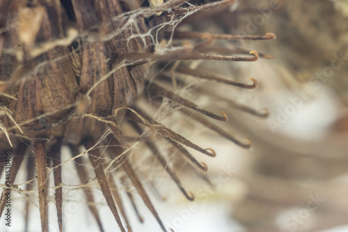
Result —
M 86 149 L 93 148 L 95 146 L 95 141 L 92 138 L 87 138 L 83 141 L 84 146 Z M 116 208 L 116 203 L 113 200 L 113 196 L 110 191 L 110 187 L 108 185 L 108 181 L 106 180 L 104 167 L 102 164 L 102 153 L 99 153 L 97 149 L 91 149 L 88 151 L 89 160 L 92 163 L 93 169 L 95 171 L 95 176 L 97 177 L 98 183 L 100 185 L 100 190 L 102 190 L 102 193 L 104 195 L 104 198 L 106 200 L 106 203 L 108 204 L 113 217 L 116 219 L 116 222 L 118 226 L 120 227 L 120 230 L 122 232 L 125 232 L 125 228 L 122 225 L 120 215 L 118 214 L 118 210 Z

